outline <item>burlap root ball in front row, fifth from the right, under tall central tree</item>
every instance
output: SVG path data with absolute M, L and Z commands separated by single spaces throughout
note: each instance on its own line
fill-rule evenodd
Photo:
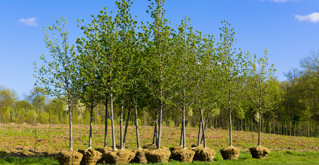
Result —
M 171 152 L 164 149 L 153 149 L 145 152 L 147 162 L 150 163 L 168 162 L 169 155 Z

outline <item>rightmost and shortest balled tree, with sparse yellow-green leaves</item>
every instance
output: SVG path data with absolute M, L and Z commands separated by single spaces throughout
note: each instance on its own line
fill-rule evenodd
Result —
M 255 112 L 259 114 L 258 124 L 258 146 L 260 146 L 260 127 L 263 113 L 276 109 L 283 93 L 277 93 L 278 81 L 275 77 L 276 69 L 271 64 L 269 67 L 266 56 L 267 50 L 264 51 L 262 57 L 256 60 L 254 56 L 253 64 L 249 76 L 248 94 L 250 96 L 250 104 Z M 267 68 L 269 67 L 269 68 Z

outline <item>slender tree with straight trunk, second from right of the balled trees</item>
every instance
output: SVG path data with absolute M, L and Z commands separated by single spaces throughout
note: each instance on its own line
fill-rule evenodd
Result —
M 223 21 L 223 28 L 220 28 L 223 33 L 220 34 L 219 56 L 223 58 L 222 65 L 225 66 L 223 70 L 224 79 L 224 97 L 222 102 L 226 111 L 229 113 L 229 146 L 233 146 L 232 141 L 232 111 L 244 99 L 241 99 L 244 93 L 243 85 L 247 79 L 247 72 L 249 67 L 248 53 L 236 52 L 233 48 L 235 42 L 234 28 L 230 29 L 228 22 Z M 239 49 L 241 51 L 241 49 Z

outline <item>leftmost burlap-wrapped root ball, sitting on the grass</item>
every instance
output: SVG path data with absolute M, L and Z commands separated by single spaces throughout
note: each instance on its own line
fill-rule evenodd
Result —
M 74 150 L 61 151 L 56 154 L 60 165 L 79 165 L 83 155 Z

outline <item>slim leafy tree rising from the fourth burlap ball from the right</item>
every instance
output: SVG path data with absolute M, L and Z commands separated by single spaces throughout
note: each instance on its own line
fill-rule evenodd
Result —
M 182 128 L 180 145 L 185 149 L 185 112 L 194 103 L 194 72 L 196 63 L 196 38 L 193 34 L 193 28 L 187 24 L 190 23 L 190 18 L 185 17 L 182 23 L 178 26 L 178 34 L 175 36 L 176 49 L 175 67 L 176 75 L 175 86 L 172 88 L 174 96 L 172 104 L 182 112 Z

